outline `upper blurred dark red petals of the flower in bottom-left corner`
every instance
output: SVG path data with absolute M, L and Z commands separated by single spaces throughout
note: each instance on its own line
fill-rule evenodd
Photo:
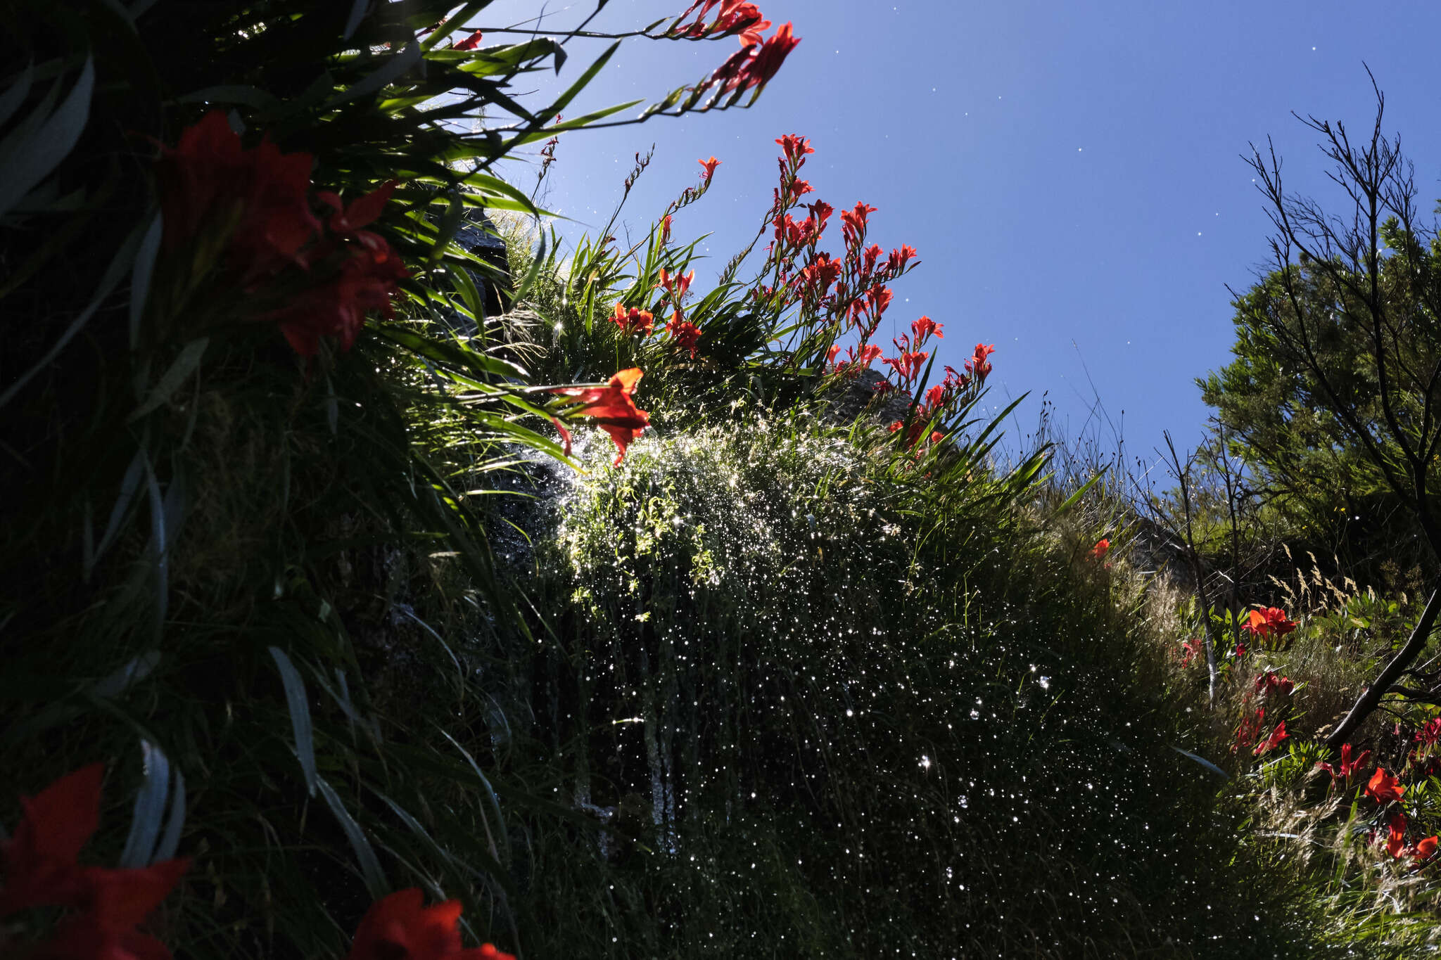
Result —
M 20 797 L 24 812 L 4 845 L 0 917 L 27 907 L 76 905 L 85 884 L 76 858 L 99 826 L 99 786 L 105 766 L 92 763 Z

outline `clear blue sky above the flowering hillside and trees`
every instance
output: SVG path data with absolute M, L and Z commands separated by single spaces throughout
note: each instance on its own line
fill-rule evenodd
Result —
M 611 0 L 592 26 L 628 29 L 684 6 Z M 875 242 L 919 250 L 922 265 L 895 285 L 886 321 L 896 331 L 921 314 L 942 322 L 940 360 L 955 366 L 977 341 L 994 343 L 990 400 L 1030 393 L 1012 433 L 1033 427 L 1049 391 L 1071 435 L 1088 425 L 1098 393 L 1102 439 L 1111 442 L 1114 425 L 1133 456 L 1148 458 L 1163 429 L 1185 445 L 1200 438 L 1208 409 L 1193 380 L 1229 358 L 1226 285 L 1248 286 L 1267 255 L 1270 223 L 1241 154 L 1270 134 L 1288 183 L 1331 197 L 1316 137 L 1290 112 L 1369 130 L 1363 62 L 1386 92 L 1386 130 L 1417 164 L 1422 210 L 1441 199 L 1441 4 L 758 6 L 777 23 L 793 20 L 803 42 L 754 108 L 571 134 L 546 206 L 576 222 L 562 232 L 599 229 L 635 151 L 654 144 L 623 213 L 644 230 L 695 181 L 696 160 L 716 155 L 710 194 L 676 217 L 677 237 L 712 232 L 702 285 L 769 204 L 774 140 L 807 135 L 814 196 L 837 209 L 870 203 Z M 591 6 L 546 9 L 549 23 L 566 26 Z M 499 0 L 484 23 L 536 10 Z M 656 99 L 735 47 L 733 39 L 630 40 L 566 114 Z M 561 82 L 594 52 L 572 49 Z M 533 176 L 512 174 L 522 186 Z M 834 253 L 839 223 L 831 232 Z

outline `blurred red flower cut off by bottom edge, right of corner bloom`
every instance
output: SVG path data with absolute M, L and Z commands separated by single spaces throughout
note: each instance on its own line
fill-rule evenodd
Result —
M 488 943 L 463 948 L 460 914 L 458 900 L 427 907 L 415 887 L 382 897 L 356 927 L 347 960 L 514 960 Z

